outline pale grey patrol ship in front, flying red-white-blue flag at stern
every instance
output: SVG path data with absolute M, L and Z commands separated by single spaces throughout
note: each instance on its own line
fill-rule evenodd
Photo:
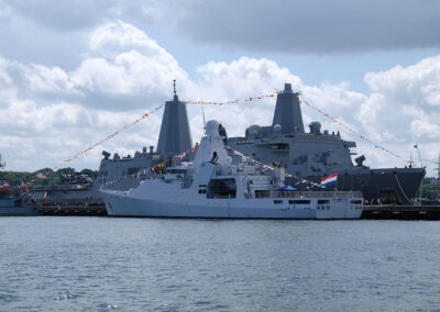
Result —
M 114 216 L 233 219 L 359 219 L 361 192 L 295 192 L 284 170 L 266 170 L 245 159 L 233 164 L 209 121 L 193 164 L 168 167 L 161 177 L 128 191 L 106 190 L 107 213 Z

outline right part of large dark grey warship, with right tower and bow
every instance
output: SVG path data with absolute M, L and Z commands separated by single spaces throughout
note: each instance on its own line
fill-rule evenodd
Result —
M 243 137 L 230 137 L 228 145 L 245 155 L 252 155 L 262 163 L 276 161 L 286 172 L 319 183 L 322 177 L 338 174 L 333 187 L 341 191 L 362 191 L 369 203 L 400 203 L 414 201 L 425 177 L 425 168 L 380 168 L 372 169 L 363 163 L 361 155 L 352 161 L 351 149 L 355 142 L 344 141 L 340 133 L 321 131 L 317 121 L 309 124 L 306 133 L 299 93 L 290 83 L 277 94 L 272 125 L 251 125 Z M 309 188 L 288 178 L 287 183 Z

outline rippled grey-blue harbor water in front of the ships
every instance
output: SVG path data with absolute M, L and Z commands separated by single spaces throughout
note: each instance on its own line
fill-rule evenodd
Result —
M 1 311 L 439 311 L 440 224 L 1 218 Z

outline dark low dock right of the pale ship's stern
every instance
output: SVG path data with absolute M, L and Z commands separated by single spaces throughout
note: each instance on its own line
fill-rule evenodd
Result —
M 364 205 L 366 220 L 440 220 L 440 205 Z

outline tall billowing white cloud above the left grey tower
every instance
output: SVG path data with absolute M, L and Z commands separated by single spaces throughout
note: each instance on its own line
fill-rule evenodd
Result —
M 158 102 L 168 94 L 173 79 L 184 87 L 191 85 L 186 71 L 157 42 L 121 21 L 106 23 L 90 34 L 90 51 L 74 70 L 38 64 L 9 66 L 22 76 L 19 85 L 35 96 L 113 110 Z

